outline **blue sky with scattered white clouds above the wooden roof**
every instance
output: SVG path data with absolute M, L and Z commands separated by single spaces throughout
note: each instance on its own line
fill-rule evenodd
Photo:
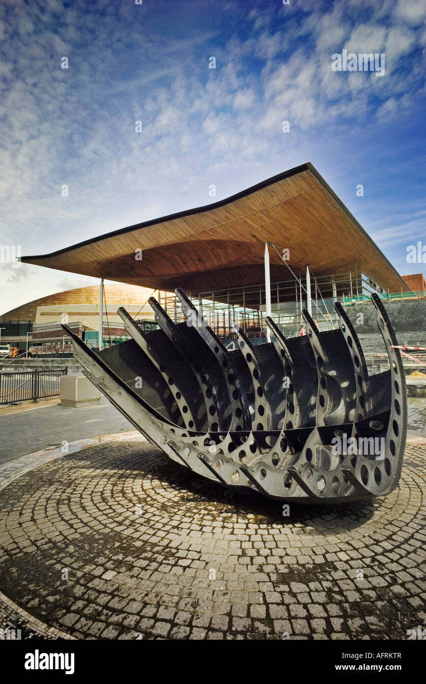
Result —
M 384 76 L 334 72 L 343 49 L 384 53 Z M 425 272 L 406 261 L 426 245 L 425 62 L 424 0 L 3 0 L 0 244 L 53 252 L 312 161 Z M 0 311 L 94 282 L 2 263 Z

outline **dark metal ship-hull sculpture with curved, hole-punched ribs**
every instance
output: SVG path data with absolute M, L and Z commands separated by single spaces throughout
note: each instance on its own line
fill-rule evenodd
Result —
M 146 439 L 189 470 L 238 492 L 300 503 L 384 496 L 397 486 L 407 431 L 405 376 L 395 332 L 377 295 L 390 369 L 369 376 L 354 327 L 252 345 L 235 326 L 228 350 L 181 289 L 186 322 L 150 298 L 159 330 L 142 332 L 124 308 L 132 339 L 93 352 L 67 326 L 92 383 Z M 377 448 L 378 447 L 378 448 Z

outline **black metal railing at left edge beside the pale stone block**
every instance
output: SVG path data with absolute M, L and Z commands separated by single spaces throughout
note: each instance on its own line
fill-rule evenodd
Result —
M 59 381 L 68 369 L 59 371 L 23 371 L 0 373 L 0 404 L 25 402 L 59 394 Z

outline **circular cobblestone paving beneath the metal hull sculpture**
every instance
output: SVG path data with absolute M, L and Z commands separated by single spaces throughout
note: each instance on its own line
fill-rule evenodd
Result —
M 1 490 L 0 589 L 77 638 L 406 639 L 426 622 L 425 466 L 410 445 L 390 496 L 283 517 L 111 440 Z

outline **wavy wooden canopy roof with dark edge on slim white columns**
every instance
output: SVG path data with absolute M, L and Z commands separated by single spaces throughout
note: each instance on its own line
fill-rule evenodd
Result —
M 395 268 L 310 162 L 226 200 L 122 228 L 25 263 L 194 295 L 263 282 L 265 242 L 290 250 L 304 276 L 360 271 L 390 291 L 408 289 Z M 135 259 L 142 250 L 142 261 Z M 291 274 L 269 250 L 271 282 Z

